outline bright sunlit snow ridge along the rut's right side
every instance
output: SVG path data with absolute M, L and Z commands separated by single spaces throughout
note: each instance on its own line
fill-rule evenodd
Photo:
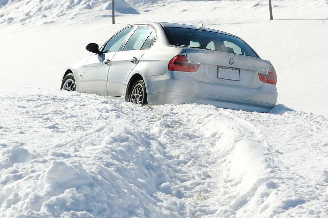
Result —
M 183 111 L 186 112 L 184 116 L 194 118 L 191 126 L 202 135 L 202 143 L 207 144 L 217 160 L 209 173 L 213 175 L 211 183 L 215 189 L 206 200 L 207 204 L 212 204 L 212 210 L 218 210 L 214 216 L 234 216 L 251 200 L 259 186 L 264 183 L 274 186 L 271 181 L 274 179 L 290 179 L 275 175 L 280 169 L 269 158 L 274 154 L 252 124 L 212 106 L 194 106 L 190 111 Z M 225 174 L 225 178 L 222 179 L 220 173 Z M 228 209 L 222 209 L 226 205 Z

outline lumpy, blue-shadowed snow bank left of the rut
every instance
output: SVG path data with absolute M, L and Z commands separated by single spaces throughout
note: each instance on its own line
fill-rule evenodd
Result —
M 2 171 L 21 176 L 1 188 L 1 216 L 160 217 L 155 193 L 172 182 L 170 164 L 152 136 L 117 123 L 61 144 L 60 153 L 57 145 L 25 167 Z

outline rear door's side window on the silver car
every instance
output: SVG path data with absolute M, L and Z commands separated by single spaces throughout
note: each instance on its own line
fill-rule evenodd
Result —
M 137 30 L 135 30 L 135 32 L 132 34 L 129 41 L 126 43 L 123 50 L 140 50 L 151 32 L 151 28 L 147 26 L 139 26 Z

